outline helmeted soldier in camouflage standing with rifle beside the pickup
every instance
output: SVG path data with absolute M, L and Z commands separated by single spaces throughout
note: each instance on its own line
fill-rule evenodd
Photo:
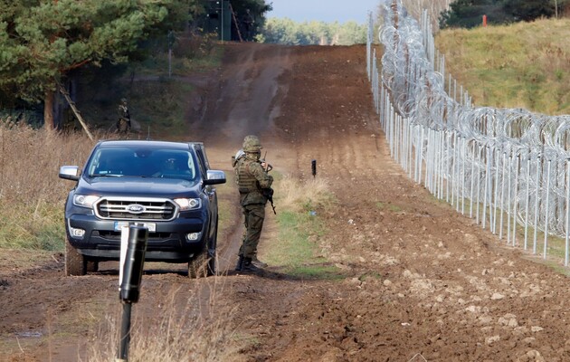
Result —
M 233 157 L 233 165 L 240 191 L 240 204 L 244 216 L 245 233 L 238 254 L 236 271 L 256 271 L 266 266 L 257 259 L 257 245 L 265 219 L 265 205 L 273 177 L 268 175 L 265 162 L 260 161 L 261 143 L 256 136 L 243 139 L 245 157 Z M 238 152 L 239 154 L 239 152 Z M 272 191 L 272 190 L 271 190 Z

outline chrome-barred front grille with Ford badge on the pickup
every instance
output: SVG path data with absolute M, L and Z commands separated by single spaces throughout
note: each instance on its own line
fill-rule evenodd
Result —
M 176 218 L 177 205 L 166 198 L 102 197 L 95 204 L 95 214 L 107 220 L 161 220 Z

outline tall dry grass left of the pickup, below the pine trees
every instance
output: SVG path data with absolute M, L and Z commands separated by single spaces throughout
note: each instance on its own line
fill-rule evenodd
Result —
M 59 167 L 82 166 L 95 143 L 0 122 L 0 248 L 62 249 L 62 210 L 73 185 L 58 177 Z

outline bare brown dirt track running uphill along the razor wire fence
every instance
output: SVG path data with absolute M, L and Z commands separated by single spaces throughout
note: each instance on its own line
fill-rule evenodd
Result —
M 260 275 L 199 281 L 150 272 L 139 310 L 150 312 L 169 286 L 190 295 L 217 280 L 223 298 L 212 307 L 239 310 L 231 329 L 256 341 L 236 360 L 570 360 L 568 279 L 505 248 L 394 165 L 372 107 L 363 46 L 233 44 L 226 54 L 223 70 L 193 96 L 200 107 L 188 111 L 192 138 L 204 140 L 211 163 L 228 172 L 249 133 L 260 134 L 281 174 L 303 179 L 317 159 L 318 177 L 338 204 L 318 211 L 329 233 L 316 243 L 347 277 L 299 281 L 271 266 Z M 275 242 L 268 214 L 261 258 Z M 220 241 L 224 268 L 233 264 L 238 217 Z M 86 307 L 116 304 L 113 274 L 64 278 L 61 262 L 2 271 L 0 360 L 77 360 L 84 339 L 69 336 L 87 335 Z M 84 323 L 58 322 L 70 315 Z M 48 329 L 50 341 L 33 341 L 33 332 Z

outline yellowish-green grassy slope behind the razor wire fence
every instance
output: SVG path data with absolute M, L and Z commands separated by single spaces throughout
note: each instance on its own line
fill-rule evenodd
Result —
M 445 29 L 435 43 L 476 105 L 570 113 L 570 19 Z

